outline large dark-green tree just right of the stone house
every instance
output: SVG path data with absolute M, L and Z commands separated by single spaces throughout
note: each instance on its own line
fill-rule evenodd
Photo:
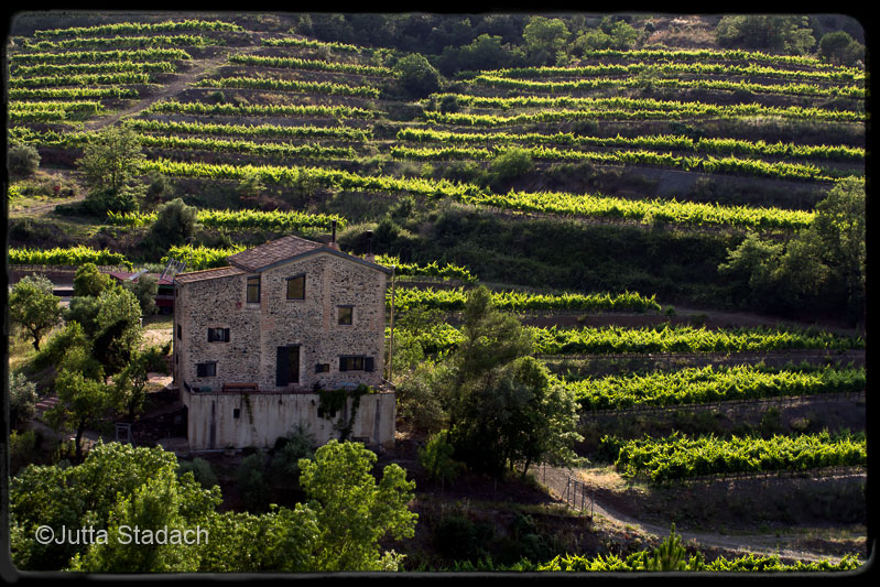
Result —
M 493 475 L 515 463 L 525 472 L 535 461 L 571 460 L 574 398 L 529 357 L 529 331 L 480 286 L 468 293 L 461 333 L 441 388 L 455 457 Z

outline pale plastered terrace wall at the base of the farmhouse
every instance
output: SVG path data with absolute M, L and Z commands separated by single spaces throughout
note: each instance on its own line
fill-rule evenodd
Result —
M 385 448 L 394 446 L 394 393 L 371 393 L 359 398 L 348 439 Z M 227 447 L 271 448 L 279 437 L 302 426 L 316 446 L 340 437 L 348 423 L 352 400 L 345 413 L 318 416 L 317 393 L 189 393 L 182 391 L 187 406 L 187 438 L 191 450 Z

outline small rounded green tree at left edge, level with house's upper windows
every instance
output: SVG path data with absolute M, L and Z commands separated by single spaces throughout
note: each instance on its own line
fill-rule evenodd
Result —
M 9 318 L 23 329 L 23 338 L 32 338 L 37 351 L 40 340 L 61 324 L 64 315 L 52 287 L 46 278 L 28 275 L 13 285 L 9 294 Z

